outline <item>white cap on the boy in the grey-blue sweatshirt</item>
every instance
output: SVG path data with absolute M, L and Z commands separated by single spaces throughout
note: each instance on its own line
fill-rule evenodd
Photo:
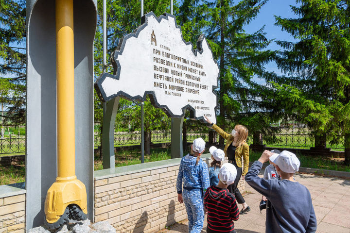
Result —
M 287 150 L 283 150 L 280 154 L 273 154 L 269 160 L 286 173 L 295 173 L 299 170 L 300 161 L 294 153 Z

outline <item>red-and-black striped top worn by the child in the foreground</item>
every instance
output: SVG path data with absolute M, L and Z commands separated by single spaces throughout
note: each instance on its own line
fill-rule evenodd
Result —
M 226 188 L 210 186 L 204 195 L 204 206 L 208 210 L 208 229 L 210 233 L 232 233 L 232 220 L 239 218 L 236 198 Z

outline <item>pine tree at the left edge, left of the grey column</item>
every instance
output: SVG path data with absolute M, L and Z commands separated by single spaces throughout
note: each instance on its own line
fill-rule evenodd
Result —
M 0 1 L 0 105 L 4 124 L 25 123 L 26 1 Z

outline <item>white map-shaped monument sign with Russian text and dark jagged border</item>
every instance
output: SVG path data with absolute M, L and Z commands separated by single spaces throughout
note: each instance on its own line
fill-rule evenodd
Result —
M 117 96 L 143 101 L 148 94 L 152 104 L 169 117 L 184 116 L 216 122 L 216 94 L 219 68 L 204 35 L 193 50 L 182 38 L 173 15 L 156 17 L 150 12 L 134 32 L 123 37 L 111 54 L 115 75 L 103 73 L 95 83 L 103 101 Z

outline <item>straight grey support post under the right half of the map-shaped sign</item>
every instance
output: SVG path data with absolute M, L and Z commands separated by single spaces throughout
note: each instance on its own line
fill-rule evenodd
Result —
M 182 124 L 185 116 L 171 118 L 171 158 L 182 158 Z

